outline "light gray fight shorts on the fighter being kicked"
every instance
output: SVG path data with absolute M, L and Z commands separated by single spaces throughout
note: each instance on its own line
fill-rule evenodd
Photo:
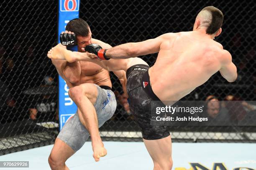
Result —
M 113 91 L 102 89 L 100 86 L 97 86 L 97 89 L 98 96 L 94 107 L 97 113 L 98 125 L 101 127 L 115 113 L 116 100 Z M 89 136 L 89 132 L 80 122 L 78 114 L 76 113 L 64 124 L 57 137 L 67 143 L 74 152 L 77 152 L 77 150 L 84 145 Z

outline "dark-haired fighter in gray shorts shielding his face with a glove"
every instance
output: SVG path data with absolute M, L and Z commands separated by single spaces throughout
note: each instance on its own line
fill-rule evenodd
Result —
M 70 31 L 67 31 L 70 30 Z M 74 34 L 71 34 L 72 32 Z M 92 38 L 89 25 L 80 18 L 67 23 L 66 31 L 60 35 L 62 44 L 77 45 L 78 51 L 91 44 L 98 43 L 104 48 L 110 45 Z M 59 52 L 66 46 L 58 44 Z M 61 61 L 51 58 L 59 75 L 69 87 L 69 96 L 77 104 L 77 113 L 65 123 L 57 136 L 49 156 L 49 165 L 53 170 L 66 170 L 66 160 L 79 150 L 91 135 L 93 157 L 98 161 L 107 151 L 100 139 L 98 127 L 110 119 L 116 109 L 116 100 L 110 81 L 109 72 L 99 65 L 87 61 Z M 114 71 L 126 91 L 124 71 Z

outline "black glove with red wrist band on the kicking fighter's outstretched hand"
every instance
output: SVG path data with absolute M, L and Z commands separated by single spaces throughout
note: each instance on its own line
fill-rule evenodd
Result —
M 102 47 L 99 46 L 98 44 L 90 44 L 90 45 L 86 46 L 84 50 L 89 53 L 94 53 L 99 60 L 109 60 L 110 59 L 110 58 L 107 58 L 105 55 L 107 50 L 102 49 Z

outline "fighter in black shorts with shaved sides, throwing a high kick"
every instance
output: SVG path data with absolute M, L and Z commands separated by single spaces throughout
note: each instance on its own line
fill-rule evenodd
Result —
M 223 46 L 213 41 L 221 33 L 223 13 L 212 6 L 197 15 L 193 31 L 166 33 L 138 43 L 126 43 L 108 50 L 97 44 L 86 46 L 90 53 L 78 53 L 54 48 L 48 57 L 68 61 L 92 61 L 108 70 L 125 70 L 131 112 L 141 127 L 143 141 L 154 162 L 154 170 L 172 169 L 172 142 L 166 126 L 149 122 L 151 101 L 177 101 L 213 74 L 229 82 L 237 78 L 236 66 Z M 158 53 L 156 63 L 149 68 L 137 56 Z M 98 61 L 100 60 L 107 61 Z M 113 60 L 109 58 L 128 58 Z

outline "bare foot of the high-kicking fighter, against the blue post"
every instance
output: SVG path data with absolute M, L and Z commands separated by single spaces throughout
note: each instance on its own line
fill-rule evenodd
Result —
M 56 59 L 56 60 L 67 60 L 69 63 L 72 63 L 76 60 L 72 51 L 69 51 L 61 46 L 55 46 L 48 51 L 48 58 Z

